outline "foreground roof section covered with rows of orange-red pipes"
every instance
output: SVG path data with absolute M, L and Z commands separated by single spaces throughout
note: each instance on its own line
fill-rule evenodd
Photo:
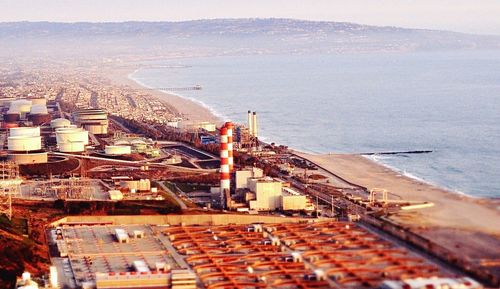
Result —
M 352 223 L 171 226 L 164 232 L 206 288 L 354 289 L 386 280 L 457 279 Z

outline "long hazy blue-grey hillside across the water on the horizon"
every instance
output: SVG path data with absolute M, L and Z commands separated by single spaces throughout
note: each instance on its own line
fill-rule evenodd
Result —
M 499 49 L 500 36 L 291 19 L 0 23 L 2 52 L 235 55 Z

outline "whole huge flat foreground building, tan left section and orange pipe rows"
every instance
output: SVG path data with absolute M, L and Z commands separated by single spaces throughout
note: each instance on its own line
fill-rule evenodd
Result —
M 87 288 L 483 288 L 356 223 L 217 218 L 80 216 L 57 222 L 50 242 Z

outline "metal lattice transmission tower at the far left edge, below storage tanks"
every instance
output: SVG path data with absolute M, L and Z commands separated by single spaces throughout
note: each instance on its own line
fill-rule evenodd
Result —
M 0 162 L 0 214 L 12 219 L 12 196 L 19 195 L 21 178 L 19 166 L 12 162 Z

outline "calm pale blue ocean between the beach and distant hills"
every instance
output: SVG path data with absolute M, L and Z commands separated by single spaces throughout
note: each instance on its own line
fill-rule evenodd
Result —
M 371 158 L 457 193 L 500 197 L 500 51 L 252 55 L 147 63 L 130 77 L 225 120 L 257 111 L 261 138 Z

